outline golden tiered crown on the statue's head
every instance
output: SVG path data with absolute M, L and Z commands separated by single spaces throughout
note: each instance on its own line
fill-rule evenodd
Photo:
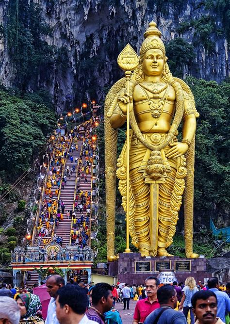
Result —
M 164 43 L 161 40 L 162 33 L 157 28 L 157 24 L 154 21 L 151 21 L 148 24 L 148 29 L 144 33 L 145 40 L 142 43 L 140 50 L 140 60 L 143 59 L 145 52 L 148 49 L 161 49 L 165 56 Z

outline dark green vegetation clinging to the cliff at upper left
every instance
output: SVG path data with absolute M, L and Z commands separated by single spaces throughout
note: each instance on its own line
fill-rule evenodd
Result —
M 50 33 L 49 25 L 41 15 L 39 4 L 33 1 L 10 0 L 3 34 L 7 39 L 8 53 L 17 70 L 16 81 L 20 90 L 33 89 L 41 81 L 49 81 L 50 69 L 54 64 L 55 48 L 48 45 L 44 37 Z M 40 70 L 43 69 L 42 76 Z

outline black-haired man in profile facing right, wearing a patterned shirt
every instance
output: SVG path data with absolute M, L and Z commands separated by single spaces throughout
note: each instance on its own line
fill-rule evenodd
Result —
M 92 296 L 92 306 L 87 310 L 86 315 L 89 320 L 99 324 L 105 324 L 104 313 L 113 307 L 112 287 L 104 282 L 94 286 Z

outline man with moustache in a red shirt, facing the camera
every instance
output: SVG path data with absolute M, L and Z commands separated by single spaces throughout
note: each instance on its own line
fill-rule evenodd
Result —
M 157 291 L 159 288 L 159 280 L 156 277 L 149 276 L 146 279 L 147 298 L 137 302 L 132 324 L 144 323 L 147 316 L 156 308 L 160 308 L 157 300 Z

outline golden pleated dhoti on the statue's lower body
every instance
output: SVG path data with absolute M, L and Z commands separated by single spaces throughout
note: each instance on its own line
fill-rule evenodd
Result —
M 170 146 L 165 146 L 159 153 L 162 157 L 165 172 L 158 180 L 148 177 L 147 163 L 151 150 L 132 135 L 130 146 L 130 235 L 132 243 L 140 251 L 148 250 L 156 256 L 157 250 L 166 248 L 172 243 L 178 220 L 178 211 L 186 176 L 186 160 L 180 158 L 167 159 L 165 153 Z M 149 143 L 159 145 L 166 134 L 144 134 Z M 176 137 L 173 141 L 177 141 Z M 126 211 L 126 177 L 121 170 L 125 168 L 126 144 L 118 159 L 117 176 L 119 190 L 123 196 L 123 207 Z M 121 163 L 122 162 L 122 163 Z

